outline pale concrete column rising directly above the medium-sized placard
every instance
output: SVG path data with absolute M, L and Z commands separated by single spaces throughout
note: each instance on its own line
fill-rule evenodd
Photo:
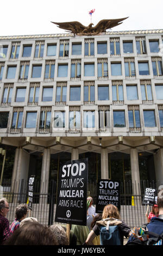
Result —
M 101 149 L 101 178 L 109 179 L 108 150 Z

